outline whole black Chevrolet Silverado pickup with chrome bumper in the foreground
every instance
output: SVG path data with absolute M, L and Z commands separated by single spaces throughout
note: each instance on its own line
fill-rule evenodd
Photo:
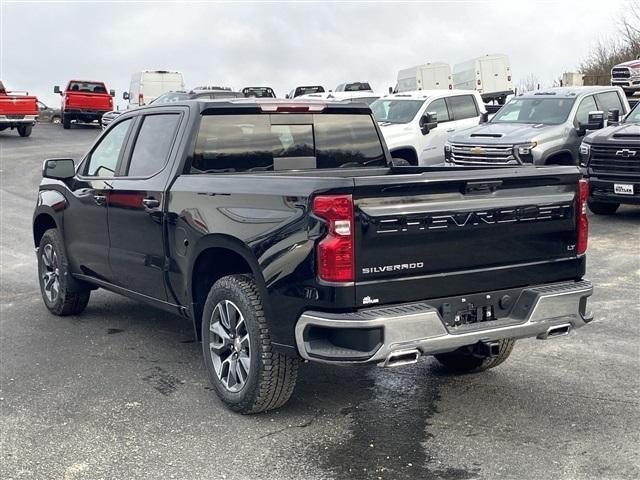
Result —
M 394 166 L 365 105 L 135 109 L 43 177 L 47 308 L 101 287 L 188 319 L 234 411 L 283 405 L 300 360 L 480 371 L 592 319 L 577 167 Z

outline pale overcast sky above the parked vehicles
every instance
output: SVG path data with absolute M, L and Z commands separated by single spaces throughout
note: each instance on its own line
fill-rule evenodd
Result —
M 615 33 L 624 0 L 423 3 L 16 2 L 0 0 L 0 78 L 59 104 L 54 85 L 179 70 L 187 86 L 369 81 L 386 91 L 401 68 L 506 53 L 514 80 L 550 85 Z

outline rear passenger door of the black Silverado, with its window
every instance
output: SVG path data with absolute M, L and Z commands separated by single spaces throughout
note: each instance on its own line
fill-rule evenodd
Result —
M 164 275 L 165 168 L 175 154 L 182 112 L 138 117 L 120 175 L 109 196 L 109 263 L 115 283 L 167 300 Z

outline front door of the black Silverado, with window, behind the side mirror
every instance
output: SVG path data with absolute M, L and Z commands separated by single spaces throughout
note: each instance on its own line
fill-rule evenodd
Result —
M 73 208 L 64 212 L 65 244 L 73 271 L 110 282 L 107 203 L 122 159 L 131 120 L 124 120 L 100 139 L 85 157 L 70 185 Z

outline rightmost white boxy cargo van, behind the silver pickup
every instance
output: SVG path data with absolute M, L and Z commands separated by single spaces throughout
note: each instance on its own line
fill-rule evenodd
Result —
M 513 93 L 509 57 L 485 55 L 454 65 L 453 88 L 477 90 L 485 102 L 496 100 L 503 104 Z

